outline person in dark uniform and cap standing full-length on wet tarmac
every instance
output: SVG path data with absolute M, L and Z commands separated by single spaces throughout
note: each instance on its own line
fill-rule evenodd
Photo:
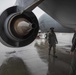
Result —
M 50 55 L 50 51 L 51 48 L 53 47 L 53 56 L 57 57 L 56 54 L 56 44 L 58 43 L 57 38 L 56 38 L 56 34 L 54 33 L 54 28 L 50 28 L 50 32 L 48 35 L 48 43 L 49 43 L 49 55 Z

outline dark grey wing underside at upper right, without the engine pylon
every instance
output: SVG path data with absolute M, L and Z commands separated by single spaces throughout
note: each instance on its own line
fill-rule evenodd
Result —
M 76 28 L 75 0 L 44 0 L 39 7 L 68 28 Z

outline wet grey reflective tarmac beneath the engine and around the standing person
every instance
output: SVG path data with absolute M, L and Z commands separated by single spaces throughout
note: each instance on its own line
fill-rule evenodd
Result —
M 73 34 L 56 34 L 57 58 L 53 52 L 48 55 L 45 38 L 35 39 L 22 48 L 8 48 L 0 43 L 0 75 L 69 75 L 72 55 L 70 55 Z

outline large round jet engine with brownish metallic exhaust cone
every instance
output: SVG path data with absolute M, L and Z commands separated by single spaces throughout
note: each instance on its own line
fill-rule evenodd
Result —
M 0 16 L 0 41 L 6 46 L 26 46 L 36 38 L 38 30 L 33 12 L 19 12 L 17 6 L 6 9 Z

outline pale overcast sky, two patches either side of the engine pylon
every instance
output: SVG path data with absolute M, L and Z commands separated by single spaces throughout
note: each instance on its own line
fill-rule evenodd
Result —
M 16 0 L 0 0 L 0 13 L 2 13 L 6 8 L 13 6 L 15 2 Z M 42 14 L 44 14 L 44 11 L 42 11 L 39 7 L 36 7 L 33 12 L 38 19 Z

